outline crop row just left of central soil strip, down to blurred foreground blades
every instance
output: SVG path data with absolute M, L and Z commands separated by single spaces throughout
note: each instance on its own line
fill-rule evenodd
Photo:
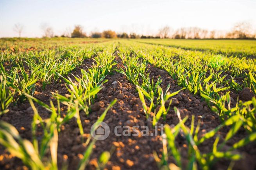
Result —
M 106 44 L 104 44 L 104 46 L 105 45 Z M 54 73 L 61 77 L 62 81 L 66 82 L 66 88 L 70 93 L 67 96 L 52 93 L 52 96 L 57 101 L 57 106 L 54 106 L 52 100 L 50 100 L 50 105 L 47 105 L 31 96 L 27 91 L 22 91 L 21 94 L 29 100 L 34 111 L 34 118 L 32 120 L 32 142 L 21 138 L 18 131 L 11 124 L 1 121 L 0 143 L 4 145 L 11 154 L 20 158 L 25 165 L 32 169 L 57 169 L 57 144 L 58 133 L 61 131 L 61 125 L 67 123 L 74 117 L 77 120 L 77 126 L 79 127 L 80 134 L 84 134 L 80 113 L 88 115 L 89 112 L 91 112 L 90 105 L 94 103 L 97 93 L 102 89 L 102 84 L 107 81 L 103 81 L 105 76 L 113 71 L 113 66 L 115 66 L 115 62 L 113 61 L 114 57 L 112 55 L 113 51 L 111 51 L 111 46 L 107 47 L 109 47 L 110 50 L 106 49 L 104 51 L 97 52 L 97 57 L 93 58 L 95 62 L 90 68 L 86 70 L 81 69 L 81 77 L 72 74 L 72 78 L 64 78 L 63 74 L 61 75 L 58 72 Z M 91 49 L 89 48 L 88 51 L 90 50 Z M 97 50 L 94 50 L 93 52 L 96 51 Z M 84 57 L 88 57 L 88 55 L 84 55 Z M 75 61 L 76 60 L 74 59 L 73 62 Z M 79 66 L 79 64 L 77 66 Z M 7 73 L 4 73 L 4 75 L 6 74 Z M 9 78 L 9 75 L 4 78 L 4 81 L 1 80 L 1 82 L 4 83 L 9 81 L 6 80 Z M 10 85 L 9 83 L 6 84 Z M 33 101 L 48 110 L 51 113 L 50 118 L 42 119 Z M 115 104 L 115 102 L 116 100 L 113 100 L 98 118 L 94 126 L 95 129 L 99 125 L 99 122 L 104 120 L 107 111 L 111 106 L 113 106 L 113 104 Z M 60 104 L 66 105 L 68 108 L 65 111 L 65 117 L 61 117 Z M 36 136 L 38 127 L 41 127 L 43 130 L 43 136 L 40 142 L 37 140 Z M 87 145 L 87 149 L 77 167 L 79 170 L 85 168 L 93 150 L 93 145 L 95 144 L 95 139 L 91 138 L 91 136 L 89 136 L 86 141 L 82 138 L 82 141 Z M 50 158 L 45 159 L 48 150 L 50 151 Z M 109 156 L 110 154 L 107 151 L 101 154 L 98 159 L 98 168 L 103 168 L 104 165 L 106 165 Z M 64 169 L 67 167 L 68 166 L 63 165 Z

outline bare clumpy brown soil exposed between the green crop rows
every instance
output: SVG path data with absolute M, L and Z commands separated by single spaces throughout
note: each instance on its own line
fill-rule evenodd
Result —
M 116 60 L 119 61 L 117 68 L 123 67 L 120 59 L 116 58 Z M 86 67 L 90 67 L 91 64 L 92 60 L 86 59 L 84 64 L 81 67 L 78 67 L 73 74 L 79 75 L 80 68 L 86 69 Z M 169 83 L 171 84 L 170 90 L 172 92 L 181 89 L 181 87 L 175 84 L 175 81 L 168 75 L 168 73 L 150 65 L 148 67 L 150 71 L 150 78 L 154 76 L 154 80 L 157 80 L 158 76 L 161 76 L 161 87 L 163 87 L 163 89 L 165 89 Z M 98 93 L 97 103 L 92 106 L 93 112 L 90 113 L 88 117 L 81 113 L 81 120 L 86 133 L 84 137 L 88 137 L 91 125 L 97 121 L 98 117 L 102 112 L 104 112 L 107 105 L 115 98 L 118 99 L 118 102 L 109 110 L 104 120 L 111 130 L 113 130 L 117 125 L 138 125 L 139 127 L 148 125 L 150 127 L 151 122 L 146 119 L 145 114 L 143 113 L 135 85 L 129 83 L 124 75 L 115 71 L 113 72 L 113 75 L 106 76 L 106 79 L 109 81 L 103 85 L 104 88 Z M 58 82 L 53 85 L 48 85 L 45 91 L 40 89 L 40 85 L 38 85 L 37 92 L 34 96 L 45 103 L 48 103 L 51 91 L 58 91 L 59 94 L 62 95 L 68 93 L 64 83 Z M 170 113 L 168 113 L 166 117 L 166 121 L 160 119 L 159 124 L 167 123 L 172 126 L 179 122 L 177 115 L 174 113 L 173 106 L 179 108 L 182 117 L 185 117 L 186 115 L 189 116 L 189 119 L 186 122 L 188 127 L 190 127 L 191 115 L 195 115 L 195 122 L 197 122 L 198 119 L 201 119 L 202 134 L 217 127 L 221 123 L 218 116 L 209 110 L 207 104 L 205 102 L 201 102 L 201 97 L 193 96 L 188 92 L 188 90 L 181 91 L 179 94 L 174 96 L 172 100 L 172 107 L 170 109 Z M 10 106 L 9 109 L 10 111 L 2 117 L 2 120 L 13 124 L 23 138 L 31 139 L 30 126 L 33 111 L 30 108 L 30 104 L 26 101 L 24 104 L 19 104 L 18 106 Z M 43 110 L 40 106 L 38 106 L 38 110 L 39 114 L 43 118 L 48 118 L 50 116 L 50 113 Z M 64 106 L 62 106 L 62 110 L 64 113 Z M 120 131 L 121 130 L 124 129 L 120 129 Z M 139 130 L 142 129 L 139 128 Z M 153 131 L 154 129 L 150 129 L 150 132 Z M 223 131 L 220 131 L 220 135 L 225 137 L 226 132 L 227 129 L 224 129 Z M 241 134 L 242 135 L 240 136 L 238 134 L 237 138 L 244 136 L 244 132 L 241 132 Z M 38 134 L 38 136 L 40 135 L 41 134 Z M 199 147 L 203 153 L 211 151 L 211 146 L 214 141 L 207 142 L 208 143 Z M 181 151 L 183 158 L 187 158 L 186 142 L 183 136 L 178 136 L 176 145 L 179 146 L 178 148 Z M 87 168 L 95 169 L 95 164 L 100 154 L 103 151 L 113 150 L 111 159 L 106 166 L 107 169 L 156 169 L 157 166 L 152 156 L 152 152 L 156 151 L 159 157 L 161 157 L 162 148 L 160 134 L 157 136 L 115 136 L 114 133 L 110 133 L 106 140 L 96 142 Z M 61 132 L 59 133 L 59 168 L 65 163 L 68 163 L 69 169 L 75 169 L 85 149 L 86 146 L 81 142 L 81 136 L 79 135 L 76 120 L 72 119 L 61 127 Z M 249 156 L 246 157 L 249 162 L 243 161 L 241 167 L 242 165 L 247 165 L 248 167 L 248 165 L 250 165 L 249 163 L 253 163 L 253 161 L 250 160 L 255 158 L 255 147 L 250 145 L 249 149 L 247 148 L 247 150 L 244 151 L 245 154 Z M 22 162 L 19 159 L 13 158 L 2 147 L 0 149 L 0 153 L 2 155 L 2 159 L 0 159 L 0 168 L 25 168 L 24 166 L 22 167 Z M 170 158 L 170 161 L 174 162 L 172 157 Z M 186 164 L 187 160 L 183 159 L 183 163 Z M 217 167 L 226 168 L 228 165 L 228 161 L 221 161 L 218 163 Z M 251 164 L 248 168 L 253 169 L 254 166 L 255 165 Z

